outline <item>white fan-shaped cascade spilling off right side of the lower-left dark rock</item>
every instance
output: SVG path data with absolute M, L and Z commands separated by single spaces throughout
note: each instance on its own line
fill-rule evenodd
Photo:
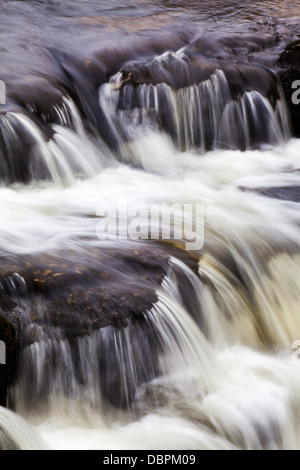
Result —
M 200 398 L 220 384 L 222 368 L 210 344 L 188 312 L 167 292 L 158 294 L 159 301 L 149 314 L 162 346 L 162 378 L 159 383 L 188 397 Z

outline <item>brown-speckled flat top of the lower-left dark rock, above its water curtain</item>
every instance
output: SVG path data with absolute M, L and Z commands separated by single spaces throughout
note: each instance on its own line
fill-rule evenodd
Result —
M 8 315 L 27 304 L 34 323 L 62 328 L 66 337 L 108 325 L 126 327 L 156 302 L 170 254 L 181 251 L 171 245 L 154 253 L 147 247 L 115 247 L 4 258 L 0 308 Z M 196 261 L 184 253 L 196 270 Z

